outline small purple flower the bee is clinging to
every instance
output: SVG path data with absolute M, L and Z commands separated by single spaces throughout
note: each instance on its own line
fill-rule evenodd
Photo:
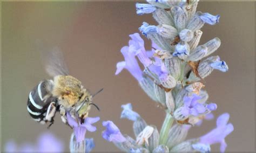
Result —
M 86 117 L 84 123 L 80 124 L 69 113 L 66 113 L 66 117 L 69 125 L 73 127 L 77 142 L 82 142 L 85 139 L 86 130 L 90 132 L 96 131 L 96 127 L 92 126 L 92 124 L 99 121 L 99 117 Z

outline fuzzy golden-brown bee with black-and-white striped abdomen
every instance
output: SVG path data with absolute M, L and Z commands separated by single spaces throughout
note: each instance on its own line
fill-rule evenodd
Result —
M 56 112 L 60 113 L 62 121 L 67 124 L 66 112 L 70 112 L 74 119 L 85 119 L 91 106 L 99 107 L 92 102 L 93 96 L 82 82 L 69 75 L 62 52 L 53 48 L 42 54 L 46 72 L 52 80 L 43 80 L 29 93 L 27 109 L 33 120 L 45 124 L 53 124 Z

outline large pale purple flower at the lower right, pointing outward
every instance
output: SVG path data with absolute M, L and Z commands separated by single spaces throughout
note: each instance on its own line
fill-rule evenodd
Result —
M 230 114 L 228 113 L 220 115 L 216 122 L 217 127 L 206 135 L 201 136 L 199 142 L 210 145 L 214 143 L 220 143 L 220 151 L 224 152 L 227 147 L 225 137 L 234 130 L 233 124 L 227 123 L 229 118 Z

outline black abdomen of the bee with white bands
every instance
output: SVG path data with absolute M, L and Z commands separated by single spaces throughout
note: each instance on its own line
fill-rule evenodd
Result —
M 57 99 L 51 96 L 51 88 L 53 86 L 52 80 L 41 81 L 29 93 L 27 109 L 33 120 L 44 124 L 47 121 L 53 120 L 46 119 L 46 113 L 49 105 L 56 105 Z M 53 103 L 52 103 L 53 102 Z

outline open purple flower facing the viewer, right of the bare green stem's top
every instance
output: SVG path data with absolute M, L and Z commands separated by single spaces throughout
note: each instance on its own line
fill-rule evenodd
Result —
M 198 116 L 199 114 L 204 113 L 206 108 L 203 104 L 197 102 L 199 99 L 201 98 L 197 94 L 193 94 L 192 97 L 185 96 L 183 99 L 184 107 L 181 109 L 181 113 L 184 116 Z

